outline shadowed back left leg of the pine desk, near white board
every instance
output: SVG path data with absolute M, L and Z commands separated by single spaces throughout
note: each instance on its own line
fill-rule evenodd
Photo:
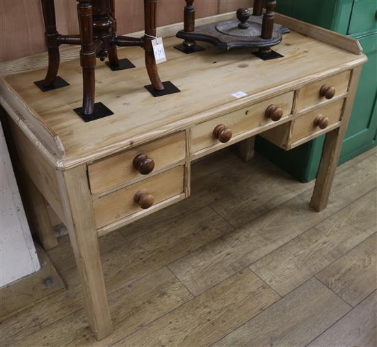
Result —
M 33 226 L 32 229 L 38 236 L 38 240 L 45 250 L 49 250 L 58 246 L 58 240 L 55 236 L 55 231 L 51 225 L 49 213 L 47 211 L 47 202 L 40 194 L 38 188 L 34 185 L 33 181 L 23 175 L 25 183 L 25 194 L 27 199 L 26 209 L 32 214 Z

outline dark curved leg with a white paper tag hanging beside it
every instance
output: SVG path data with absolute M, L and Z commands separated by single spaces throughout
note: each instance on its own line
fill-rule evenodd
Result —
M 144 0 L 144 15 L 145 15 L 145 66 L 149 79 L 155 90 L 164 90 L 161 79 L 158 76 L 158 69 L 151 41 L 156 36 L 156 2 L 157 0 Z

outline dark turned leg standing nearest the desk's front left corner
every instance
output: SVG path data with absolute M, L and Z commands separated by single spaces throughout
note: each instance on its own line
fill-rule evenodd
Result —
M 77 0 L 77 15 L 79 17 L 82 66 L 83 99 L 82 113 L 93 114 L 95 103 L 95 50 L 93 44 L 93 7 L 88 0 Z

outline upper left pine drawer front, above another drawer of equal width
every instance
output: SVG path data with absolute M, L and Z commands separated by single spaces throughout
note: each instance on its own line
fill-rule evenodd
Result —
M 101 159 L 88 165 L 90 190 L 93 194 L 104 192 L 143 175 L 134 168 L 134 158 L 146 154 L 153 160 L 156 172 L 176 164 L 186 156 L 185 132 L 180 131 L 166 138 Z M 151 175 L 149 174 L 149 175 Z

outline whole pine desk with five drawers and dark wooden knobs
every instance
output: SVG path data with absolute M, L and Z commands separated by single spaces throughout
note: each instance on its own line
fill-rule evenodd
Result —
M 284 57 L 270 61 L 210 44 L 186 55 L 173 49 L 182 23 L 160 28 L 168 57 L 160 75 L 181 90 L 165 97 L 144 88 L 143 51 L 120 49 L 136 68 L 111 72 L 97 64 L 96 99 L 114 115 L 90 123 L 73 111 L 82 102 L 77 48 L 61 52 L 60 76 L 70 85 L 50 92 L 34 85 L 45 75 L 46 55 L 3 64 L 1 105 L 33 192 L 40 238 L 45 247 L 56 243 L 47 201 L 69 229 L 97 339 L 112 333 L 98 237 L 187 198 L 193 160 L 237 142 L 250 157 L 256 134 L 289 150 L 326 133 L 311 199 L 317 211 L 326 208 L 366 57 L 352 38 L 279 14 L 276 23 L 291 33 L 274 47 Z

